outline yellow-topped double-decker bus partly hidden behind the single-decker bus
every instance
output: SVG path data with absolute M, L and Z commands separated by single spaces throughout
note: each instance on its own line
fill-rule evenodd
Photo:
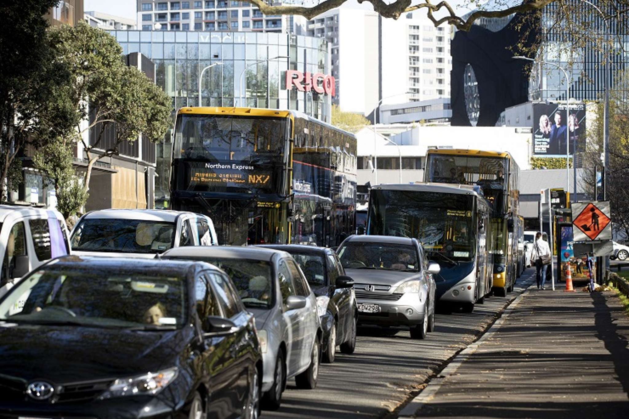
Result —
M 424 181 L 476 185 L 492 203 L 489 249 L 493 253 L 495 295 L 513 291 L 517 272 L 516 218 L 520 214 L 520 167 L 509 153 L 429 149 Z

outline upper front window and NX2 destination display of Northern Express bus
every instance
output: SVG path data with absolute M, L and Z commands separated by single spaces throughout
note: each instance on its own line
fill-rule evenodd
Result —
M 286 118 L 179 115 L 173 147 L 178 190 L 277 193 Z

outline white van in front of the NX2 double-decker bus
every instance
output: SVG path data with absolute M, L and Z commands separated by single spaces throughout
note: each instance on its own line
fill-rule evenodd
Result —
M 70 233 L 77 255 L 152 258 L 179 246 L 218 245 L 211 218 L 187 211 L 100 210 L 82 216 Z

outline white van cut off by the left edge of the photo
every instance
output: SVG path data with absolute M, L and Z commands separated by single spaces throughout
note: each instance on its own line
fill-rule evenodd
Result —
M 68 228 L 61 213 L 0 205 L 0 296 L 47 260 L 69 253 Z

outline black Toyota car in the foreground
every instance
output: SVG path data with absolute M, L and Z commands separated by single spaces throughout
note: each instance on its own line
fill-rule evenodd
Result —
M 204 262 L 48 262 L 0 299 L 0 371 L 9 417 L 259 415 L 253 316 Z

